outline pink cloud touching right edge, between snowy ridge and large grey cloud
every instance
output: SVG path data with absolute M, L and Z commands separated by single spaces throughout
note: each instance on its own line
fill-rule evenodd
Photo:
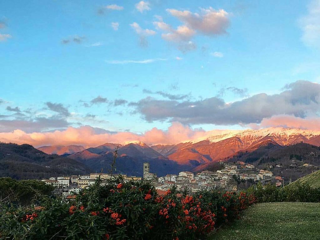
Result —
M 269 118 L 263 118 L 260 124 L 249 124 L 254 129 L 265 127 L 289 127 L 310 130 L 320 130 L 319 117 L 300 118 L 289 115 L 277 115 Z

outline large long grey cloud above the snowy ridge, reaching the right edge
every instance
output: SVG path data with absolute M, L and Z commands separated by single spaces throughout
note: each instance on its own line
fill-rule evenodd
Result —
M 230 89 L 236 91 L 237 89 Z M 183 124 L 234 125 L 260 123 L 275 115 L 305 118 L 319 114 L 320 84 L 296 81 L 285 86 L 280 94 L 256 94 L 226 103 L 219 97 L 198 101 L 158 100 L 151 97 L 131 104 L 148 122 L 178 121 Z

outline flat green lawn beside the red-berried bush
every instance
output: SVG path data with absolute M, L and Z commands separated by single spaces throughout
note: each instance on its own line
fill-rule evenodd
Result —
M 214 233 L 209 240 L 320 239 L 320 203 L 258 203 L 241 219 Z

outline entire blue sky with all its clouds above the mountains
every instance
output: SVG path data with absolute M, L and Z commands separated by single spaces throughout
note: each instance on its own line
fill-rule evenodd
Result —
M 320 0 L 0 1 L 0 141 L 318 130 L 319 56 Z

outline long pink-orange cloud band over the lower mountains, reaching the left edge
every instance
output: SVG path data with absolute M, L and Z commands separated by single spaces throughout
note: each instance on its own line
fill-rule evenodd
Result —
M 230 131 L 193 130 L 189 126 L 174 122 L 166 131 L 153 128 L 144 134 L 130 132 L 101 133 L 91 126 L 68 127 L 66 130 L 45 133 L 25 133 L 21 130 L 15 130 L 10 133 L 0 133 L 0 141 L 18 144 L 28 143 L 35 147 L 44 145 L 83 145 L 95 147 L 106 142 L 126 144 L 131 141 L 142 141 L 148 145 L 155 145 L 176 144 L 188 141 L 196 142 L 204 140 L 211 135 L 225 132 Z

